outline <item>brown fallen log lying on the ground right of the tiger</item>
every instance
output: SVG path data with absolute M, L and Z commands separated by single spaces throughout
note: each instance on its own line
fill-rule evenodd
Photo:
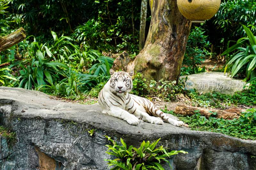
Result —
M 234 119 L 234 118 L 238 118 L 241 115 L 241 112 L 244 111 L 244 109 L 233 107 L 225 110 L 220 110 L 220 109 L 209 110 L 202 107 L 177 105 L 174 112 L 177 114 L 185 115 L 185 116 L 192 116 L 195 114 L 195 111 L 198 111 L 201 115 L 205 116 L 206 118 L 209 118 L 212 113 L 216 112 L 217 115 L 215 115 L 214 117 L 223 118 L 223 119 Z

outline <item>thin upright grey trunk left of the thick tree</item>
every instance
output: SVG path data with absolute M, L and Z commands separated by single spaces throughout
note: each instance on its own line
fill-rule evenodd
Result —
M 148 9 L 148 0 L 141 0 L 141 9 L 140 9 L 140 43 L 139 50 L 141 51 L 145 44 L 145 28 L 147 20 L 147 9 Z

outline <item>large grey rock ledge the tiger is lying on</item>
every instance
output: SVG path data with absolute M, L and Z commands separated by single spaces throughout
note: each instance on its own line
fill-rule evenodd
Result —
M 97 105 L 51 100 L 44 93 L 21 88 L 0 87 L 0 120 L 17 135 L 14 145 L 2 137 L 3 170 L 106 170 L 104 159 L 110 156 L 105 153 L 108 141 L 104 135 L 115 140 L 122 137 L 134 146 L 161 137 L 165 147 L 188 152 L 170 159 L 174 170 L 256 169 L 256 141 L 167 123 L 131 126 L 101 113 Z M 91 137 L 87 129 L 92 128 L 96 131 Z

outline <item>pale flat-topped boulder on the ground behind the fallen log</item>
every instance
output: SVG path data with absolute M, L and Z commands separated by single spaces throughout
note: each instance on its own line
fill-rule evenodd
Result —
M 182 76 L 181 78 L 185 78 Z M 203 72 L 188 75 L 186 88 L 195 88 L 199 93 L 221 92 L 233 95 L 237 91 L 242 91 L 245 82 L 239 79 L 230 78 L 222 72 Z

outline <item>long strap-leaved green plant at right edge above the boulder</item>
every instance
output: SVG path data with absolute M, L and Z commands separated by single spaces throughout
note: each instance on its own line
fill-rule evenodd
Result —
M 233 52 L 226 63 L 224 73 L 230 71 L 232 78 L 238 73 L 245 73 L 245 80 L 256 80 L 256 37 L 246 26 L 243 27 L 247 37 L 240 38 L 235 45 L 221 54 Z

